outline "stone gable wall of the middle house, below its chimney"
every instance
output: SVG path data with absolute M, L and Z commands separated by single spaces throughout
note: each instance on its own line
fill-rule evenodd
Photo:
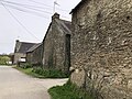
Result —
M 64 69 L 64 37 L 65 35 L 56 29 L 56 24 L 53 22 L 44 41 L 45 67 Z

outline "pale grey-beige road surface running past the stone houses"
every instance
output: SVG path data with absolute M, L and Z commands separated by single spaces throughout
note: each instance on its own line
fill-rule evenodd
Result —
M 0 66 L 0 99 L 50 99 L 47 89 L 67 79 L 37 79 L 21 72 Z

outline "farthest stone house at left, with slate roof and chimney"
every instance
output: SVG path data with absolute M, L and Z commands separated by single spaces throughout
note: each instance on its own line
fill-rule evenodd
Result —
M 13 55 L 13 64 L 18 62 L 25 62 L 26 51 L 30 50 L 35 43 L 20 42 L 16 40 Z

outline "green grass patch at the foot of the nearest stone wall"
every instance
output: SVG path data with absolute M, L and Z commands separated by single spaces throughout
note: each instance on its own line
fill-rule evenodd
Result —
M 94 99 L 84 89 L 70 82 L 48 89 L 52 99 Z

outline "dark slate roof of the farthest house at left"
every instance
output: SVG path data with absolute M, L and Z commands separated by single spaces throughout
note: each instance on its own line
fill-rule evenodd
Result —
M 26 51 L 29 51 L 29 48 L 31 48 L 36 43 L 16 42 L 14 53 L 23 53 L 23 54 L 25 54 Z

